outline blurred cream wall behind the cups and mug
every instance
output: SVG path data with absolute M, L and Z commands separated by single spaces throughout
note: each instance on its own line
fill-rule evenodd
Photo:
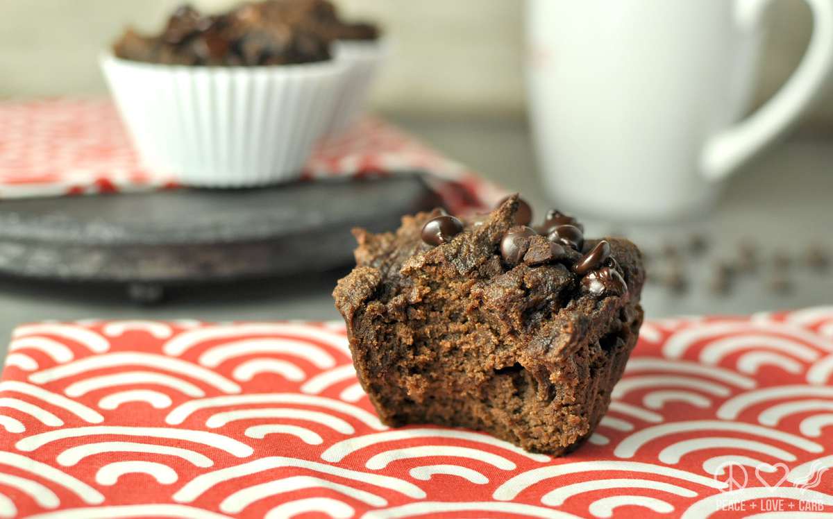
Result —
M 729 0 L 726 0 L 729 1 Z M 129 23 L 158 27 L 176 0 L 0 1 L 0 97 L 104 92 L 97 52 Z M 232 0 L 194 0 L 220 9 Z M 337 0 L 387 27 L 397 56 L 374 102 L 388 111 L 516 114 L 523 109 L 521 0 Z M 775 0 L 759 99 L 806 46 L 802 0 Z M 833 89 L 812 123 L 833 127 Z

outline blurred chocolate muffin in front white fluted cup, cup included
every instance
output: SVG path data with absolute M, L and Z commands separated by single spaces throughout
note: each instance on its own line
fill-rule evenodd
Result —
M 292 21 L 288 5 L 247 3 L 217 16 L 180 7 L 161 34 L 128 31 L 114 55 L 102 55 L 144 167 L 191 187 L 302 177 L 350 71 L 331 57 L 330 40 Z

